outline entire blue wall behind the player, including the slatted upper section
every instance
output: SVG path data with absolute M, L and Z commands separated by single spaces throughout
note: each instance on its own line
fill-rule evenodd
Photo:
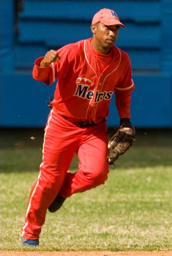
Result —
M 53 49 L 91 37 L 90 23 L 101 8 L 115 9 L 121 28 L 116 45 L 131 58 L 136 89 L 132 123 L 136 127 L 172 127 L 172 1 L 25 0 L 14 40 L 13 1 L 1 1 L 1 126 L 44 127 L 55 83 L 32 79 L 34 60 Z M 7 20 L 7 13 L 10 19 Z M 115 99 L 108 126 L 118 125 Z

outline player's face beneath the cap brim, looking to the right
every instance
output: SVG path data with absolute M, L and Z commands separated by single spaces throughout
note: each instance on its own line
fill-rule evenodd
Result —
M 114 45 L 118 37 L 119 25 L 107 26 L 99 22 L 92 25 L 91 30 L 94 34 L 94 43 L 97 44 L 98 47 L 109 49 Z

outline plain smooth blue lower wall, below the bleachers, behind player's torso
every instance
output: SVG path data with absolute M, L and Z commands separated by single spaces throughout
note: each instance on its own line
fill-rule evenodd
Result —
M 46 86 L 31 74 L 4 74 L 8 86 L 1 90 L 1 126 L 44 127 L 49 113 L 48 97 L 53 98 L 56 83 Z M 136 86 L 132 95 L 131 116 L 135 127 L 171 127 L 171 80 L 167 74 L 133 75 Z M 110 104 L 108 126 L 119 124 L 115 99 Z

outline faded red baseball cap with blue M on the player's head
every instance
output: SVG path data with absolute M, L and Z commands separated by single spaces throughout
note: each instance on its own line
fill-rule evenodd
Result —
M 121 25 L 123 28 L 126 28 L 124 24 L 120 22 L 116 12 L 111 9 L 103 8 L 97 13 L 95 13 L 91 25 L 96 24 L 98 22 L 101 22 L 107 26 Z

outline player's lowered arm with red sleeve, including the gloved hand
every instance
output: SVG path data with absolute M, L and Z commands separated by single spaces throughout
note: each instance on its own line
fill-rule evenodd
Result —
M 127 56 L 128 57 L 128 56 Z M 135 129 L 130 122 L 131 94 L 134 90 L 134 82 L 131 78 L 131 65 L 129 57 L 127 58 L 126 72 L 120 83 L 115 87 L 116 107 L 120 117 L 120 126 L 115 129 L 112 138 L 108 143 L 110 153 L 107 156 L 109 164 L 113 164 L 120 155 L 124 154 L 132 145 L 135 135 Z

